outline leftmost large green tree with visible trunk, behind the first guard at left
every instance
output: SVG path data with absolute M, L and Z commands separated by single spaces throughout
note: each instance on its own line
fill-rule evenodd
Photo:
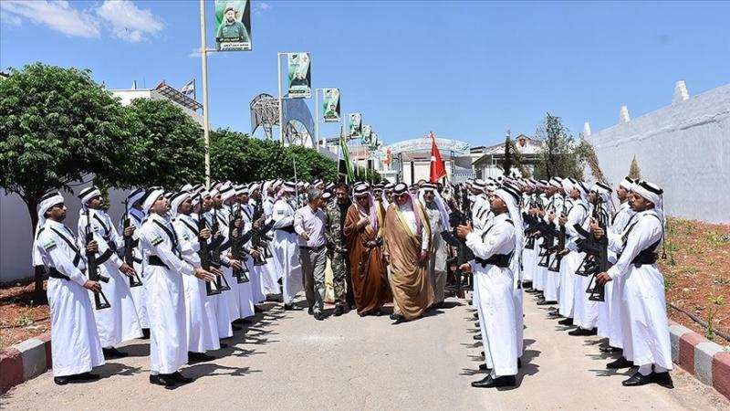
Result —
M 95 174 L 118 185 L 128 140 L 118 100 L 89 70 L 42 63 L 10 68 L 0 81 L 0 186 L 26 203 L 35 237 L 38 202 L 48 190 Z M 43 300 L 36 268 L 36 299 Z

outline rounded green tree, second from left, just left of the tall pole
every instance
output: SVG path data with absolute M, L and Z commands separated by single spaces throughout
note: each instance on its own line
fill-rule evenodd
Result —
M 124 114 L 131 139 L 121 185 L 177 188 L 203 181 L 203 131 L 193 118 L 170 100 L 132 100 Z

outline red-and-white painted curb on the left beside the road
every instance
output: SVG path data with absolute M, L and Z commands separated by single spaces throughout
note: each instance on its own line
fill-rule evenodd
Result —
M 0 393 L 51 369 L 51 333 L 17 343 L 0 352 Z

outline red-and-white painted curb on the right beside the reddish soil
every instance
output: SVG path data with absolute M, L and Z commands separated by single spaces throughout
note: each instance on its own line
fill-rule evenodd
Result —
M 669 336 L 673 363 L 730 398 L 730 352 L 671 320 Z

